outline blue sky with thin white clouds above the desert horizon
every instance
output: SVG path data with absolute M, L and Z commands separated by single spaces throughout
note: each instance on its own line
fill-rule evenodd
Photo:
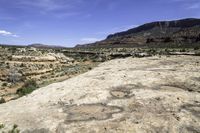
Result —
M 71 47 L 188 17 L 200 18 L 200 0 L 0 0 L 0 43 Z

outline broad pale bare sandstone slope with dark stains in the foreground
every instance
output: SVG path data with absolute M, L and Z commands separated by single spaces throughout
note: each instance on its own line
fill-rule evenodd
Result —
M 24 133 L 198 133 L 200 57 L 116 59 L 0 105 Z

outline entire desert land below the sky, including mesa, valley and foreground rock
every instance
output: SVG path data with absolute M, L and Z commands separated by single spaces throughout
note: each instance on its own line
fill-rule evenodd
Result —
M 0 46 L 2 133 L 199 133 L 200 19 L 74 48 Z

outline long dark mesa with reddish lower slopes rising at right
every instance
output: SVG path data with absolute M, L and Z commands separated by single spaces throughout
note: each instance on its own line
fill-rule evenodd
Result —
M 200 19 L 158 21 L 109 35 L 77 47 L 195 47 L 200 45 Z

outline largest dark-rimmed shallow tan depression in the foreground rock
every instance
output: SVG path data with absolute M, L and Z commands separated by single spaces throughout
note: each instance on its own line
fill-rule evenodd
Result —
M 107 120 L 112 118 L 113 114 L 120 113 L 122 111 L 123 109 L 121 107 L 109 106 L 101 103 L 66 106 L 64 108 L 64 112 L 68 115 L 65 123 Z

